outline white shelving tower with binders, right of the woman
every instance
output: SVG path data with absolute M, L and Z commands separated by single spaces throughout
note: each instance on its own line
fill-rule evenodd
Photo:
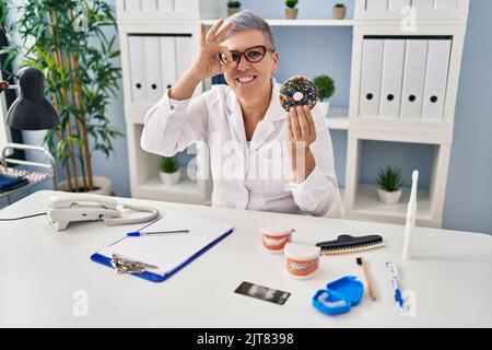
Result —
M 406 10 L 391 9 L 391 3 L 414 7 Z M 403 31 L 402 24 L 409 23 L 402 21 L 408 21 L 408 16 L 412 15 L 414 22 L 409 22 L 411 27 Z M 434 145 L 434 156 L 430 188 L 419 190 L 417 224 L 441 228 L 467 18 L 468 0 L 355 1 L 344 189 L 345 218 L 403 223 L 408 189 L 403 190 L 399 205 L 383 206 L 377 200 L 376 186 L 360 184 L 362 141 L 423 143 Z M 429 120 L 422 118 L 422 113 L 412 119 L 398 115 L 382 118 L 361 113 L 360 102 L 365 98 L 361 86 L 364 39 L 371 37 L 409 40 L 445 37 L 452 40 L 442 116 L 433 116 L 433 119 Z M 429 65 L 429 61 L 425 65 Z M 402 103 L 403 98 L 409 98 L 403 93 L 401 95 Z

